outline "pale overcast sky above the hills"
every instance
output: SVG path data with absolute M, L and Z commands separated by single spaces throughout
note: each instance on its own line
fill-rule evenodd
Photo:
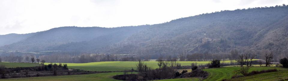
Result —
M 282 4 L 288 0 L 0 0 L 0 35 L 63 26 L 152 25 L 202 13 Z

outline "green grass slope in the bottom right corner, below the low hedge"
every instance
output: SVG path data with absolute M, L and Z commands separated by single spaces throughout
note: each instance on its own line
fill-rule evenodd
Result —
M 251 76 L 245 76 L 228 81 L 278 81 L 288 79 L 288 71 L 269 72 L 263 74 L 256 74 Z M 287 80 L 285 80 L 287 81 Z

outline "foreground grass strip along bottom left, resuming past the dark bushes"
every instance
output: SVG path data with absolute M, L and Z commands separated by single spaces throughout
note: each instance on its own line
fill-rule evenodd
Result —
M 0 79 L 0 81 L 121 81 L 112 78 L 113 76 L 120 74 L 123 74 L 123 72 L 49 76 L 49 77 L 12 78 L 12 79 Z M 154 80 L 154 81 L 199 81 L 199 78 L 179 78 L 179 79 L 166 79 L 166 80 Z

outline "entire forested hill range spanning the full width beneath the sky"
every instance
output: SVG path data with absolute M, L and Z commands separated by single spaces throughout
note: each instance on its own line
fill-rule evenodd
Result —
M 287 31 L 287 6 L 258 7 L 207 13 L 155 25 L 53 28 L 6 45 L 2 43 L 11 39 L 0 38 L 4 40 L 0 41 L 0 50 L 153 55 L 221 53 L 243 48 L 287 50 Z M 202 43 L 205 37 L 212 41 Z

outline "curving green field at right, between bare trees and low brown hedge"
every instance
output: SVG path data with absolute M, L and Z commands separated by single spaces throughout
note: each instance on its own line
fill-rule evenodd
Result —
M 211 68 L 211 69 L 203 69 L 209 73 L 209 77 L 204 81 L 221 81 L 223 79 L 231 79 L 234 75 L 234 70 L 240 69 L 240 67 L 223 67 L 223 68 Z M 277 69 L 287 71 L 286 68 L 280 67 L 250 67 L 249 71 L 261 71 L 267 69 Z

